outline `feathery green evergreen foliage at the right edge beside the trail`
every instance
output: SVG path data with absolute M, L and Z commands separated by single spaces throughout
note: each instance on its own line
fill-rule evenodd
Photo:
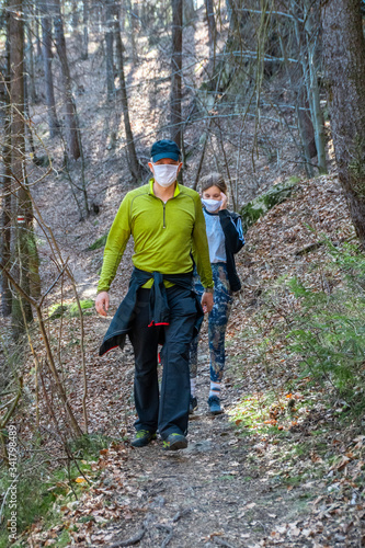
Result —
M 296 278 L 289 282 L 301 307 L 288 340 L 292 352 L 300 357 L 303 375 L 329 383 L 337 397 L 355 411 L 364 406 L 365 255 L 349 244 L 339 250 L 328 242 L 328 249 L 332 264 L 327 279 L 340 270 L 343 282 L 335 288 L 327 283 L 322 292 Z

